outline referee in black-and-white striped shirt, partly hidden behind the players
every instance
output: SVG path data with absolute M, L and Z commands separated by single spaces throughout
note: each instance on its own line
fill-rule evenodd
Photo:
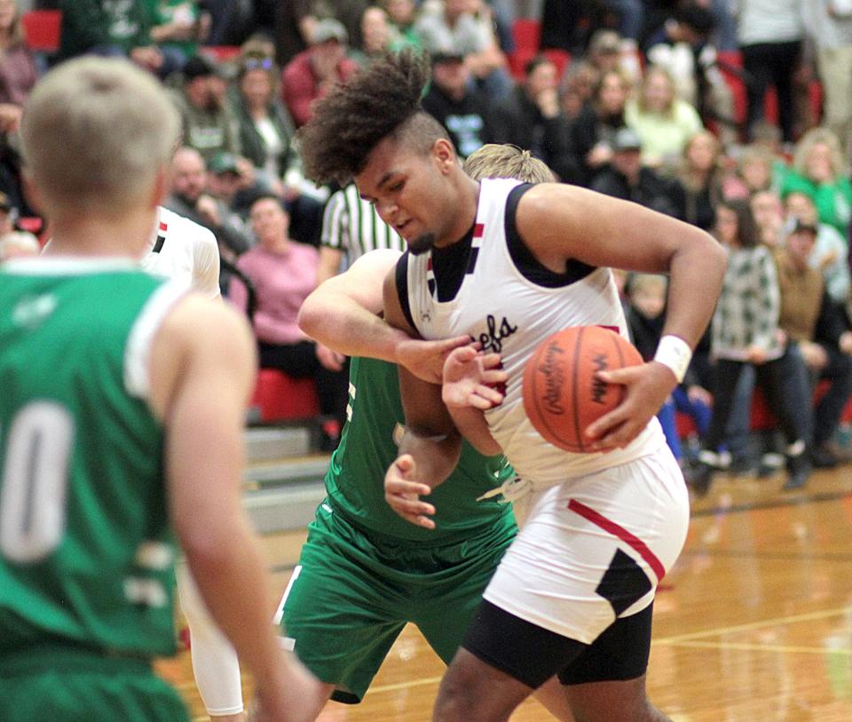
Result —
M 406 242 L 360 197 L 354 183 L 328 199 L 319 241 L 318 286 L 340 271 L 343 254 L 350 266 L 371 250 L 406 250 Z

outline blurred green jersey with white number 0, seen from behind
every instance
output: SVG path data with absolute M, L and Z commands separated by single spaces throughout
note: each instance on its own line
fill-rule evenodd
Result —
M 0 270 L 0 652 L 174 651 L 154 332 L 181 291 L 120 261 Z

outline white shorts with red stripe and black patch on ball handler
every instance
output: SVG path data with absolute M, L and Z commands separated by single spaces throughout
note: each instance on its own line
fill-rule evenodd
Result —
M 686 540 L 690 504 L 667 447 L 534 491 L 485 590 L 511 615 L 584 644 L 651 604 Z

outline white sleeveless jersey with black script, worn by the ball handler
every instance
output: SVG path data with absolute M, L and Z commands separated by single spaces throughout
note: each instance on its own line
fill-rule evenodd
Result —
M 519 477 L 545 488 L 565 480 L 625 464 L 665 446 L 659 422 L 652 418 L 626 448 L 607 454 L 575 454 L 544 440 L 527 418 L 522 382 L 525 362 L 551 333 L 569 326 L 605 326 L 629 338 L 618 290 L 609 268 L 569 261 L 557 288 L 532 282 L 509 252 L 507 218 L 514 179 L 483 180 L 467 273 L 452 300 L 438 301 L 431 252 L 406 253 L 410 320 L 428 339 L 468 334 L 485 351 L 501 354 L 509 374 L 502 404 L 485 413 L 489 429 Z M 553 275 L 553 274 L 551 274 Z M 403 301 L 405 307 L 405 302 Z

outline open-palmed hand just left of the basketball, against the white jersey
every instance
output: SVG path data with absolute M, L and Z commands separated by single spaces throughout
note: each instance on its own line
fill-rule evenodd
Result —
M 503 394 L 495 387 L 508 378 L 499 353 L 480 353 L 476 344 L 464 345 L 446 357 L 441 397 L 448 408 L 485 411 L 502 403 Z

